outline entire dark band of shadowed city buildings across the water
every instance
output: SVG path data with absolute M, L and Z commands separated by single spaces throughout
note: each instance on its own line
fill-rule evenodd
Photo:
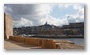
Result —
M 32 27 L 14 28 L 14 35 L 35 35 L 35 36 L 69 36 L 84 35 L 84 22 L 70 23 L 62 27 L 50 25 L 47 22 L 44 25 Z

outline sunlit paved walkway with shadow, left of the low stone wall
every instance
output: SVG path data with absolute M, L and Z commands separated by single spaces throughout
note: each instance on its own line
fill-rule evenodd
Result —
M 15 41 L 5 40 L 4 49 L 40 49 L 40 46 L 26 45 Z

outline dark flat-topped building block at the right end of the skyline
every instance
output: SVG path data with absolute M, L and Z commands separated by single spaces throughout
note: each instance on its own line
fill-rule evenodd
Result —
M 63 25 L 62 29 L 65 31 L 64 33 L 68 35 L 84 35 L 84 22 Z

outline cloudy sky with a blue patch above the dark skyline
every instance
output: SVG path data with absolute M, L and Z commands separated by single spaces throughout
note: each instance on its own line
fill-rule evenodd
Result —
M 4 4 L 4 13 L 13 18 L 14 27 L 84 22 L 84 4 Z

